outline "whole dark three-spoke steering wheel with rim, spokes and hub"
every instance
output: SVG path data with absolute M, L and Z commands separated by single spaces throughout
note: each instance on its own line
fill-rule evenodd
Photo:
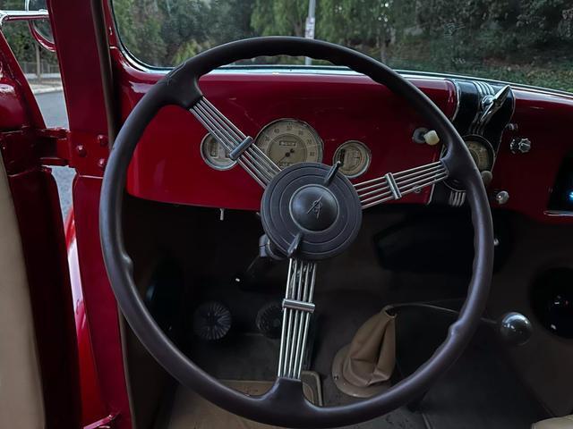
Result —
M 263 55 L 308 56 L 345 65 L 404 97 L 447 146 L 440 161 L 353 185 L 338 165 L 303 163 L 280 171 L 202 94 L 199 78 L 228 63 Z M 122 206 L 128 165 L 146 126 L 165 105 L 189 110 L 263 187 L 261 221 L 269 255 L 289 258 L 278 377 L 260 397 L 246 396 L 206 374 L 167 338 L 143 303 L 124 248 Z M 300 381 L 318 261 L 344 251 L 360 228 L 362 210 L 398 199 L 446 178 L 466 189 L 474 225 L 473 275 L 446 340 L 414 374 L 368 400 L 321 408 L 304 399 Z M 185 61 L 150 88 L 128 116 L 108 159 L 99 208 L 107 274 L 125 319 L 141 343 L 176 380 L 231 413 L 269 425 L 331 427 L 381 416 L 415 400 L 461 355 L 483 313 L 492 277 L 492 215 L 483 182 L 466 145 L 432 101 L 386 65 L 343 46 L 306 38 L 250 38 L 214 47 Z M 320 287 L 320 286 L 317 286 Z

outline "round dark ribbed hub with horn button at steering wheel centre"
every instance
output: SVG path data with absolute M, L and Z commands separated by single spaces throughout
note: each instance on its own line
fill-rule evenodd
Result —
M 292 165 L 279 172 L 261 200 L 262 227 L 288 257 L 334 257 L 354 240 L 362 223 L 355 188 L 335 167 Z

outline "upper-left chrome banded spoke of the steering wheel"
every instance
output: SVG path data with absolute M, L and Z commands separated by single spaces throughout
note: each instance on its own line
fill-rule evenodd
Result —
M 252 138 L 244 135 L 207 98 L 201 97 L 190 112 L 262 188 L 280 172 L 277 164 L 252 144 Z

